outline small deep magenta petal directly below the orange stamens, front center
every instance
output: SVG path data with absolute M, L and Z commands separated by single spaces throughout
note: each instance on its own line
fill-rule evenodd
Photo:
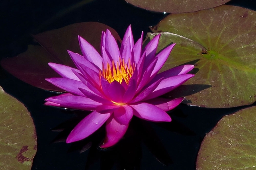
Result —
M 122 102 L 124 93 L 125 89 L 119 82 L 114 80 L 114 82 L 110 83 L 108 87 L 108 95 L 113 102 Z

